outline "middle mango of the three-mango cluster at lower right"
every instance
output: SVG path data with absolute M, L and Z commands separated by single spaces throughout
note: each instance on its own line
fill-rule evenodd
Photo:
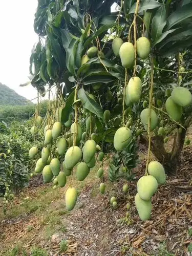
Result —
M 142 200 L 148 201 L 157 191 L 158 183 L 152 175 L 141 177 L 137 182 L 137 192 Z

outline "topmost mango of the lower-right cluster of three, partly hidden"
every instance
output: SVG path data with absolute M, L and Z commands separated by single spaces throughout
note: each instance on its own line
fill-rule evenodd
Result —
M 156 178 L 158 184 L 165 184 L 166 176 L 163 165 L 158 161 L 152 161 L 148 164 L 148 174 Z

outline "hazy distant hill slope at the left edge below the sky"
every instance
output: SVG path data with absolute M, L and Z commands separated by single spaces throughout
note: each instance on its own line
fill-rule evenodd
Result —
M 31 101 L 22 102 L 27 100 L 25 97 L 20 96 L 14 90 L 5 86 L 0 82 L 0 105 L 24 105 L 32 104 Z

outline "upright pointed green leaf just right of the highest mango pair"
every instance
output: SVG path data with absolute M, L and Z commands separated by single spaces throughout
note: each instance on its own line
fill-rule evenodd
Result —
M 152 38 L 154 41 L 161 35 L 164 26 L 166 25 L 166 10 L 162 5 L 156 12 L 152 20 Z

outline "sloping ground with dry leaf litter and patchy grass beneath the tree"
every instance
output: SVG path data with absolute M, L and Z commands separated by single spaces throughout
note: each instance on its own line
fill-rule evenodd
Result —
M 144 173 L 145 151 L 140 147 L 135 179 L 126 195 L 123 180 L 108 181 L 108 160 L 104 161 L 104 195 L 98 191 L 98 164 L 83 182 L 74 179 L 79 197 L 71 212 L 65 207 L 65 187 L 53 189 L 52 184 L 43 184 L 41 176 L 32 178 L 8 205 L 6 215 L 0 201 L 0 255 L 190 255 L 191 148 L 184 148 L 178 175 L 159 186 L 151 219 L 142 222 L 134 196 Z M 117 209 L 110 205 L 112 196 L 117 198 Z

